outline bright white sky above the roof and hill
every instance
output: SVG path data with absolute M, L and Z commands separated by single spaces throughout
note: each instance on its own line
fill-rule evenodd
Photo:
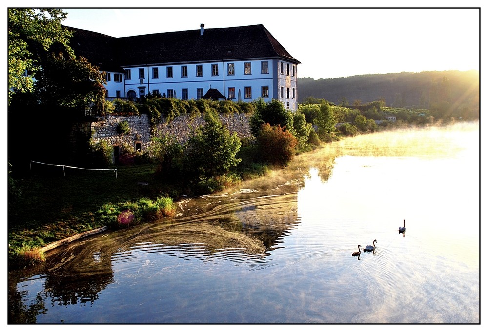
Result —
M 480 69 L 479 8 L 63 9 L 63 25 L 113 37 L 263 24 L 301 62 L 300 78 Z

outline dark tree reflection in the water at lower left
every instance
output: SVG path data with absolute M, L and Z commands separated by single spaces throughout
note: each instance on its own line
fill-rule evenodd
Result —
M 104 254 L 101 254 L 104 253 Z M 74 243 L 48 252 L 47 261 L 35 269 L 9 273 L 8 322 L 12 324 L 36 323 L 36 316 L 47 311 L 45 301 L 51 305 L 91 303 L 106 285 L 113 282 L 110 251 Z M 27 303 L 29 288 L 18 291 L 22 279 L 44 275 L 42 291 Z M 20 287 L 21 288 L 21 287 Z

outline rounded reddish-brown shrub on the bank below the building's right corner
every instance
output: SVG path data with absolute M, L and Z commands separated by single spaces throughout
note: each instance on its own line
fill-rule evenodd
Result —
M 298 141 L 281 126 L 271 127 L 266 123 L 261 127 L 256 138 L 261 158 L 266 162 L 286 166 L 295 156 Z

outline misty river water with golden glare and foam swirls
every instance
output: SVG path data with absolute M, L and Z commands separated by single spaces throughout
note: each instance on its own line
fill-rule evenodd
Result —
M 9 322 L 479 323 L 479 137 L 344 139 L 174 219 L 52 250 L 9 273 Z

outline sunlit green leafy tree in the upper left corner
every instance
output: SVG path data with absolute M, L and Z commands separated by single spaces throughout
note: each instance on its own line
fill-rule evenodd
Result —
M 61 9 L 8 9 L 8 100 L 15 92 L 31 92 L 32 76 L 39 68 L 39 56 L 60 43 L 67 46 L 70 32 L 61 26 L 67 13 Z M 26 75 L 26 74 L 29 75 Z

